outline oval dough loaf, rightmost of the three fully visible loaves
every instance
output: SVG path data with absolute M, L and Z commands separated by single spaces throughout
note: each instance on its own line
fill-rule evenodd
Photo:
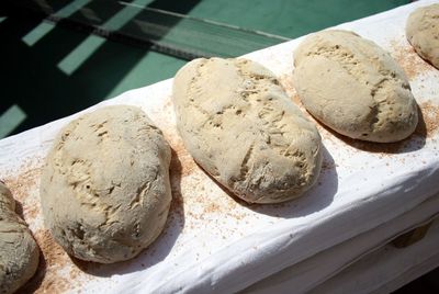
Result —
M 381 47 L 347 31 L 308 36 L 294 52 L 294 87 L 306 110 L 356 139 L 397 142 L 416 128 L 404 71 Z

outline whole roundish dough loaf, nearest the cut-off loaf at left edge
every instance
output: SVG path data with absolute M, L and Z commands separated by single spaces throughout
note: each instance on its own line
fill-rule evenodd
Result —
M 64 127 L 41 180 L 46 226 L 82 260 L 127 260 L 162 230 L 170 206 L 170 148 L 138 108 L 115 105 Z

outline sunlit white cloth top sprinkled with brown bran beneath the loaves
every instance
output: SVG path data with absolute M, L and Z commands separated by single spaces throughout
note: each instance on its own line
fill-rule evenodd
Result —
M 340 26 L 376 42 L 396 59 L 404 53 L 398 61 L 407 74 L 415 72 L 409 75 L 410 84 L 426 118 L 436 117 L 439 108 L 439 71 L 410 50 L 404 26 L 410 11 L 430 2 L 437 1 L 415 2 Z M 300 39 L 291 41 L 247 56 L 279 75 L 292 97 L 292 50 L 299 43 Z M 97 267 L 88 271 L 92 274 L 79 271 L 72 276 L 76 265 L 67 257 L 64 262 L 49 260 L 45 280 L 60 283 L 63 276 L 55 275 L 65 273 L 64 279 L 69 283 L 61 292 L 239 291 L 391 222 L 439 191 L 437 129 L 428 132 L 426 137 L 415 135 L 392 145 L 393 152 L 386 154 L 376 151 L 380 149 L 376 145 L 354 143 L 352 146 L 319 127 L 326 151 L 318 183 L 297 201 L 282 205 L 243 205 L 201 171 L 182 148 L 170 102 L 171 82 L 133 90 L 98 105 L 140 106 L 176 150 L 178 159 L 173 159 L 171 182 L 178 201 L 165 234 L 136 259 Z M 19 195 L 24 217 L 36 236 L 44 231 L 38 210 L 40 168 L 54 136 L 72 118 L 0 142 L 0 178 Z M 181 170 L 176 168 L 178 161 Z

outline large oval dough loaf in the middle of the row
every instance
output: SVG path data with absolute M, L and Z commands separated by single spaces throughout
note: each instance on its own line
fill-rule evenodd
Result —
M 195 161 L 243 200 L 283 202 L 316 181 L 320 136 L 261 65 L 195 59 L 177 72 L 173 104 Z

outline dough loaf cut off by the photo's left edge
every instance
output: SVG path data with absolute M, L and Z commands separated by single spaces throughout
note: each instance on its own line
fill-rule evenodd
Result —
M 0 182 L 0 293 L 13 293 L 36 272 L 40 250 L 15 201 Z

